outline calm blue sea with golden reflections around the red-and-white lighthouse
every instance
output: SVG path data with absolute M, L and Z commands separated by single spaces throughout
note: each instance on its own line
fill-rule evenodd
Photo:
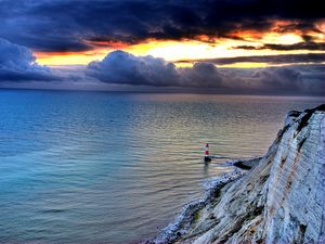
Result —
M 155 236 L 320 98 L 0 90 L 0 242 Z M 206 166 L 203 145 L 223 156 Z

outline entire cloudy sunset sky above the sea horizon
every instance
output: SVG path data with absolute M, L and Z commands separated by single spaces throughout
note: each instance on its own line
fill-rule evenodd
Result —
M 0 88 L 325 95 L 315 0 L 0 0 Z

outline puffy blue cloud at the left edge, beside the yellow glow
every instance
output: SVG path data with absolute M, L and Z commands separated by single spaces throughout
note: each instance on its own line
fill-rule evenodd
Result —
M 0 38 L 0 81 L 56 79 L 50 68 L 36 63 L 29 49 Z

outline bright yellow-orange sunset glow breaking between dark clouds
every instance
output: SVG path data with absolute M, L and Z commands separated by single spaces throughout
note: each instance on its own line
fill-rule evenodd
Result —
M 324 24 L 320 24 L 320 28 L 324 27 Z M 235 34 L 239 35 L 239 33 Z M 208 37 L 199 36 L 198 40 L 153 40 L 150 39 L 145 42 L 133 44 L 133 46 L 117 46 L 116 48 L 105 47 L 101 43 L 94 50 L 86 52 L 70 52 L 70 53 L 35 53 L 37 62 L 42 65 L 87 65 L 91 61 L 103 60 L 107 53 L 121 49 L 122 51 L 130 52 L 134 55 L 153 55 L 155 57 L 162 57 L 169 62 L 176 62 L 178 67 L 188 67 L 192 66 L 191 60 L 205 60 L 205 59 L 220 59 L 220 57 L 236 57 L 236 56 L 253 56 L 253 55 L 278 55 L 278 54 L 303 54 L 303 53 L 316 53 L 320 51 L 309 51 L 309 50 L 247 50 L 237 49 L 234 47 L 238 46 L 252 46 L 261 47 L 264 43 L 272 44 L 294 44 L 303 41 L 301 36 L 296 33 L 290 34 L 280 34 L 276 31 L 266 34 L 257 34 L 253 31 L 243 31 L 240 37 L 246 38 L 246 40 L 240 39 L 230 39 L 230 38 L 219 38 L 207 39 Z M 260 36 L 258 36 L 260 35 Z M 313 37 L 322 39 L 322 34 L 315 34 Z M 317 35 L 317 36 L 316 36 Z M 324 35 L 323 35 L 324 36 Z M 179 62 L 177 62 L 179 61 Z M 190 61 L 190 62 L 180 62 Z M 223 67 L 265 67 L 270 66 L 266 63 L 236 63 L 229 65 L 218 65 Z

